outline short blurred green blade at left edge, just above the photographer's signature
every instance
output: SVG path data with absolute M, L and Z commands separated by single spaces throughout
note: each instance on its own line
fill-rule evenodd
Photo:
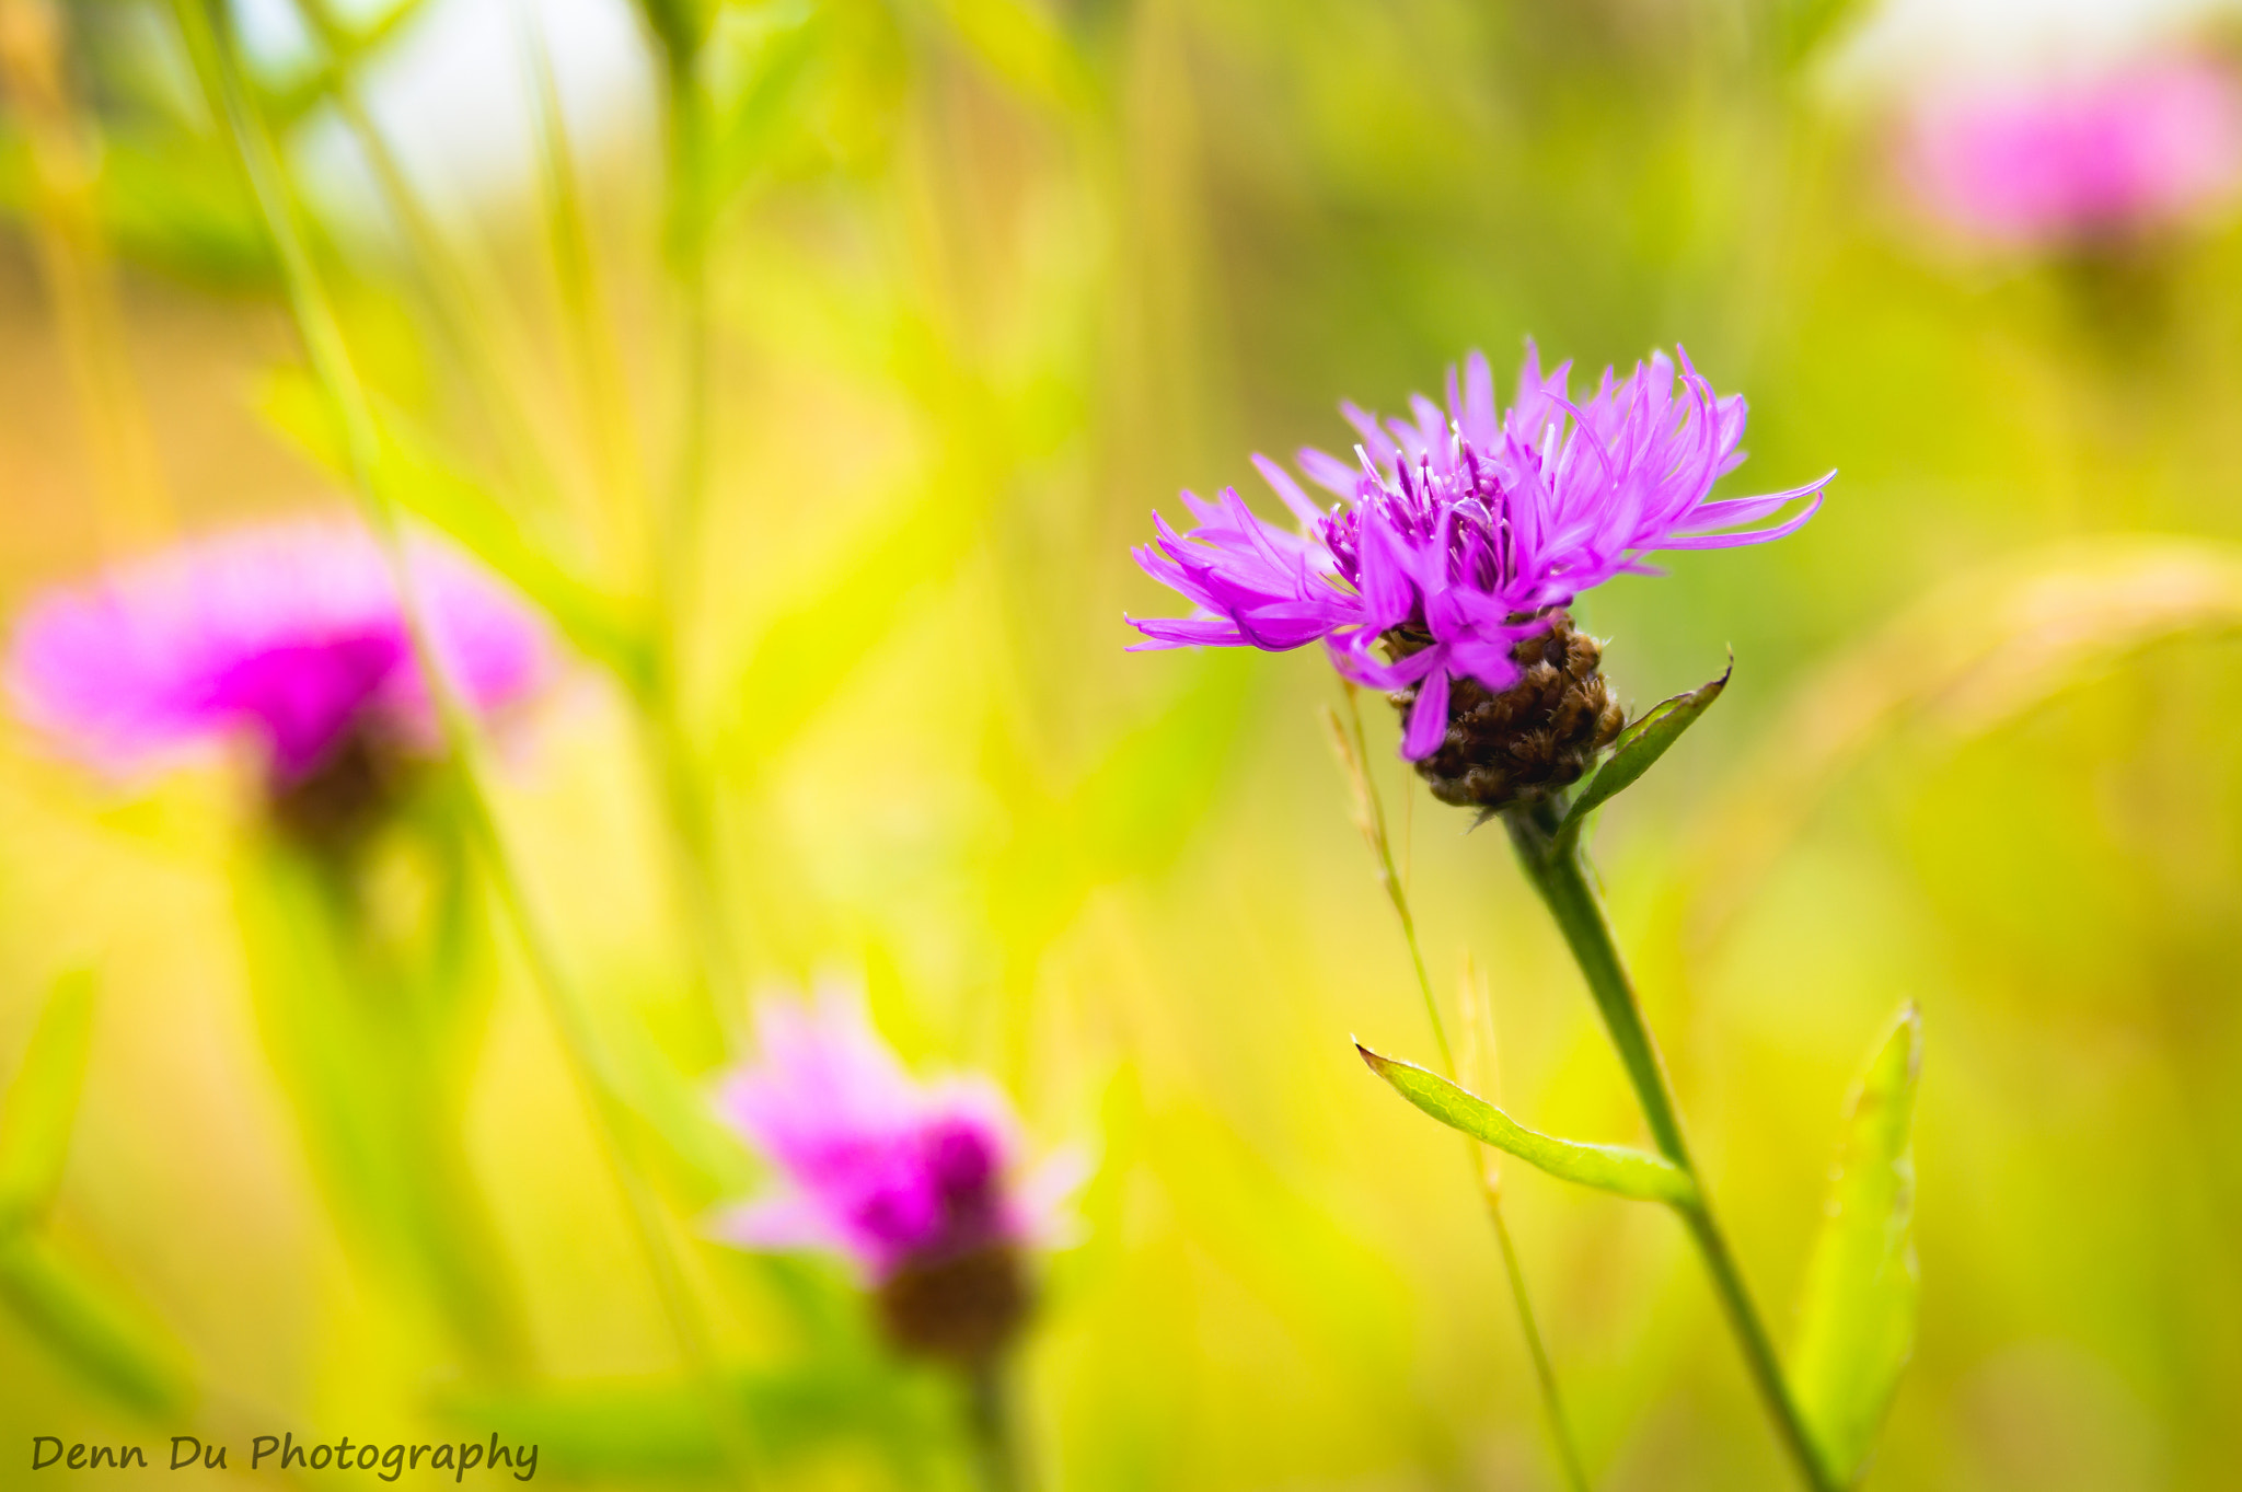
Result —
M 0 1239 L 0 1304 L 121 1409 L 164 1420 L 186 1405 L 179 1355 L 45 1239 L 27 1232 Z

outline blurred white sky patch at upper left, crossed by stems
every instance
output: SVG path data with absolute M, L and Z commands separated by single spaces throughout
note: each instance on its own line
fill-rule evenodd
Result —
M 363 18 L 395 0 L 336 0 Z M 233 0 L 258 65 L 307 67 L 316 47 L 291 0 Z M 543 36 L 578 161 L 648 148 L 655 72 L 628 0 L 426 0 L 365 69 L 368 110 L 421 202 L 460 224 L 518 211 L 538 188 L 534 40 Z M 291 141 L 305 193 L 345 235 L 383 233 L 388 215 L 350 130 L 316 114 Z

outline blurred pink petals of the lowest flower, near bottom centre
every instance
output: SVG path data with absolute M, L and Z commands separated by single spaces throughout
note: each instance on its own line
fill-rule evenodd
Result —
M 717 1216 L 744 1248 L 847 1255 L 874 1281 L 993 1248 L 1049 1243 L 1078 1181 L 1060 1158 L 1018 1176 L 1011 1104 L 984 1080 L 921 1084 L 872 1031 L 863 1001 L 762 1001 L 762 1060 L 733 1073 L 720 1113 L 785 1185 Z

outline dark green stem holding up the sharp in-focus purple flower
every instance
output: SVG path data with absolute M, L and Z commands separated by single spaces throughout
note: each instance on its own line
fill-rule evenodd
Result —
M 1688 1140 L 1682 1134 L 1682 1116 L 1675 1111 L 1666 1064 L 1659 1062 L 1659 1048 L 1643 1024 L 1643 1008 L 1634 999 L 1634 983 L 1619 959 L 1612 925 L 1605 921 L 1603 903 L 1590 885 L 1578 845 L 1556 842 L 1558 813 L 1549 800 L 1509 809 L 1502 818 L 1509 824 L 1511 845 L 1518 849 L 1518 862 L 1525 867 L 1527 880 L 1540 892 L 1542 903 L 1565 934 L 1565 943 L 1572 948 L 1574 961 L 1581 966 L 1581 975 L 1587 979 L 1587 992 L 1603 1015 L 1612 1046 L 1619 1048 L 1621 1066 L 1628 1069 L 1628 1082 L 1634 1087 L 1634 1098 L 1643 1109 L 1643 1122 L 1650 1125 L 1650 1138 L 1657 1143 L 1659 1154 L 1688 1172 L 1690 1181 L 1697 1183 L 1695 1201 L 1675 1203 L 1675 1212 L 1682 1214 L 1682 1223 L 1704 1257 L 1704 1268 L 1713 1277 L 1713 1290 L 1720 1295 L 1729 1328 L 1744 1351 L 1744 1367 L 1751 1371 L 1751 1380 L 1767 1402 L 1767 1414 L 1776 1420 L 1776 1432 L 1782 1436 L 1785 1449 L 1789 1449 L 1791 1461 L 1798 1465 L 1800 1481 L 1814 1492 L 1843 1492 L 1814 1449 L 1805 1418 L 1798 1414 L 1789 1382 L 1782 1378 L 1776 1344 L 1767 1335 L 1758 1308 L 1751 1304 L 1744 1275 L 1738 1270 L 1729 1239 L 1713 1216 L 1704 1176 L 1697 1174 L 1688 1154 Z

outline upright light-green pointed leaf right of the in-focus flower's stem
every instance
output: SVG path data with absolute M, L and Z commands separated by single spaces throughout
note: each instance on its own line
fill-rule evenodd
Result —
M 1915 1351 L 1915 1006 L 1854 1089 L 1821 1234 L 1807 1263 L 1791 1387 L 1832 1474 L 1852 1485 Z

